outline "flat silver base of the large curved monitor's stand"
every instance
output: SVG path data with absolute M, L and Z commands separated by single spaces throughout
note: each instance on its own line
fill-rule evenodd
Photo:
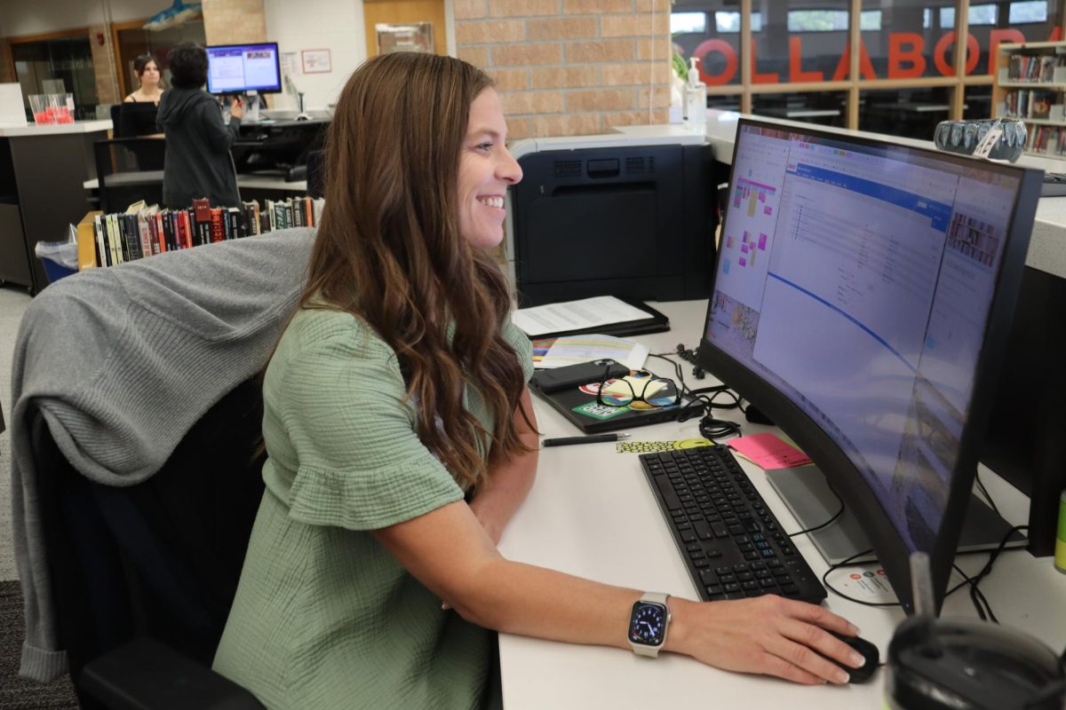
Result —
M 766 478 L 798 522 L 800 530 L 822 525 L 840 510 L 837 497 L 829 490 L 825 476 L 817 466 L 768 470 Z M 1006 521 L 971 493 L 970 505 L 963 522 L 963 533 L 958 541 L 958 551 L 994 550 L 999 547 L 1010 529 L 1011 526 Z M 839 564 L 871 548 L 858 518 L 847 508 L 833 525 L 807 534 L 830 565 Z M 1024 547 L 1028 542 L 1024 535 L 1015 532 L 1006 546 Z M 876 556 L 871 552 L 856 557 L 852 562 L 872 562 L 875 559 Z

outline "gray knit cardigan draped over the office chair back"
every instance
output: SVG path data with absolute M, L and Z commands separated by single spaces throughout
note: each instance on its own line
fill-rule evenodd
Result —
M 82 271 L 30 304 L 12 368 L 21 676 L 46 682 L 66 672 L 38 516 L 32 408 L 86 478 L 147 479 L 211 406 L 265 365 L 306 282 L 313 240 L 312 229 L 290 229 Z

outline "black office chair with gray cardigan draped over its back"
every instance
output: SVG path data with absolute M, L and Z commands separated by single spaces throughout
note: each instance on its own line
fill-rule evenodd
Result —
M 39 413 L 33 456 L 60 640 L 82 708 L 261 708 L 210 670 L 263 482 L 259 382 L 211 408 L 128 488 L 84 478 Z

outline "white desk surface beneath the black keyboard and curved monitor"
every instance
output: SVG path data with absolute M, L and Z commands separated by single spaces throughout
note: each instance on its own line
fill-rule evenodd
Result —
M 673 329 L 643 336 L 652 352 L 673 351 L 678 343 L 694 347 L 699 339 L 706 301 L 657 303 Z M 673 377 L 668 364 L 651 358 L 648 367 Z M 691 365 L 683 371 L 690 384 Z M 704 386 L 707 381 L 698 381 Z M 571 425 L 534 397 L 545 436 L 574 435 Z M 725 416 L 721 410 L 717 414 Z M 744 423 L 744 433 L 770 430 Z M 695 422 L 661 424 L 630 431 L 631 441 L 698 436 Z M 798 529 L 780 503 L 761 468 L 742 463 L 781 524 Z M 982 480 L 1011 523 L 1023 523 L 1028 499 L 990 472 Z M 826 564 L 804 536 L 796 548 L 819 576 Z M 538 564 L 602 582 L 698 598 L 663 521 L 635 453 L 616 453 L 614 444 L 563 446 L 540 451 L 537 479 L 500 545 L 513 560 Z M 987 555 L 960 559 L 973 574 Z M 851 569 L 837 572 L 846 575 Z M 954 577 L 953 577 L 954 580 Z M 953 581 L 954 583 L 954 581 Z M 1007 626 L 1020 629 L 1062 651 L 1066 646 L 1066 576 L 1050 558 L 1024 550 L 1000 556 L 981 584 L 992 610 Z M 566 599 L 560 599 L 566 604 Z M 861 607 L 829 594 L 825 606 L 862 629 L 885 658 L 899 610 Z M 973 618 L 966 590 L 950 597 L 946 615 Z M 523 708 L 818 708 L 856 710 L 881 707 L 884 671 L 861 686 L 806 688 L 773 678 L 746 676 L 705 666 L 688 657 L 665 654 L 657 660 L 615 648 L 576 646 L 500 634 L 503 699 L 507 710 Z

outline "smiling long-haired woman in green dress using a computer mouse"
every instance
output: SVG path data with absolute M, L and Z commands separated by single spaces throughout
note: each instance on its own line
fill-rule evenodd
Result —
M 167 93 L 169 94 L 169 92 Z M 214 667 L 268 708 L 499 705 L 495 630 L 629 648 L 641 592 L 497 551 L 533 483 L 529 340 L 489 250 L 522 171 L 449 56 L 369 60 L 329 127 L 301 308 L 263 379 L 265 490 Z M 443 602 L 443 604 L 441 604 Z M 826 609 L 668 600 L 665 650 L 803 683 L 861 658 Z

